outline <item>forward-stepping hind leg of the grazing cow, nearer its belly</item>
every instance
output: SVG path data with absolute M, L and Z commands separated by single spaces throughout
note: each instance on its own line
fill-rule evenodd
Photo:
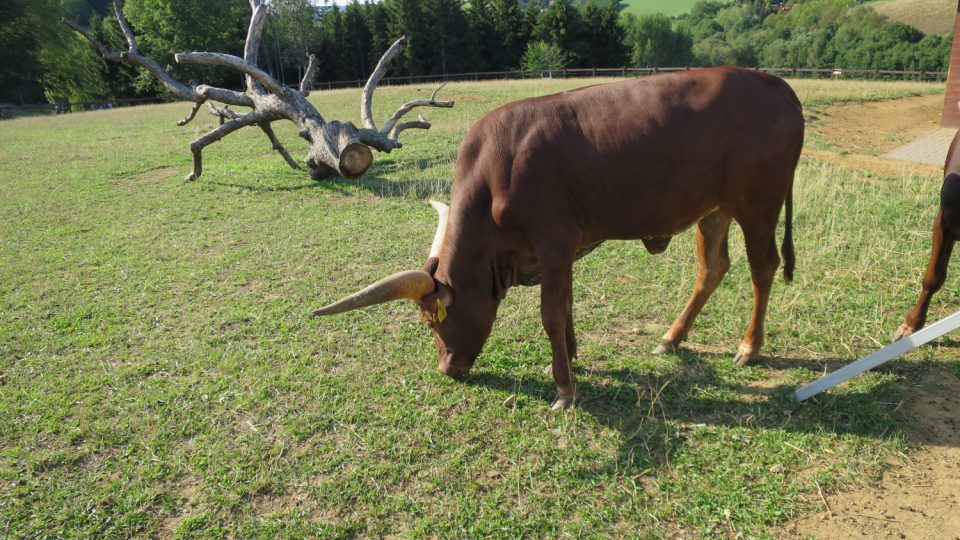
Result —
M 730 268 L 727 254 L 727 234 L 731 217 L 724 212 L 714 212 L 697 224 L 697 283 L 686 307 L 680 312 L 670 329 L 663 335 L 653 354 L 662 354 L 675 349 L 687 338 L 693 320 L 717 289 L 717 285 Z

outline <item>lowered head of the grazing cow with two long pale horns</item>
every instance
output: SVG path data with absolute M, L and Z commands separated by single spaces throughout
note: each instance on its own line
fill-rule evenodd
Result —
M 420 318 L 433 332 L 438 368 L 447 375 L 463 375 L 470 371 L 483 349 L 500 301 L 489 286 L 481 286 L 475 279 L 455 284 L 446 269 L 437 272 L 449 208 L 436 201 L 430 204 L 440 219 L 423 270 L 397 272 L 313 314 L 334 315 L 391 300 L 413 300 L 420 309 Z M 473 264 L 474 261 L 466 261 L 466 266 Z

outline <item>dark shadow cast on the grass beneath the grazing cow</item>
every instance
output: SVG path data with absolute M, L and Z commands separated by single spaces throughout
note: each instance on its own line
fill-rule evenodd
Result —
M 905 388 L 902 382 L 884 380 L 863 392 L 821 394 L 797 403 L 797 384 L 771 384 L 768 379 L 743 382 L 742 377 L 725 376 L 727 368 L 722 362 L 729 362 L 729 356 L 685 349 L 675 354 L 677 365 L 666 374 L 592 367 L 589 361 L 586 366 L 575 366 L 574 371 L 580 375 L 578 413 L 589 414 L 623 435 L 615 463 L 602 464 L 583 474 L 608 476 L 616 471 L 639 473 L 660 467 L 672 461 L 672 456 L 686 444 L 691 430 L 711 426 L 754 432 L 833 433 L 878 440 L 901 430 L 909 432 L 906 428 L 910 418 L 898 412 Z M 756 365 L 780 370 L 803 368 L 813 378 L 819 378 L 824 369 L 833 371 L 847 363 L 763 358 Z M 931 368 L 893 362 L 876 371 L 913 376 Z M 733 369 L 736 368 L 730 368 Z M 544 408 L 549 407 L 555 392 L 549 375 L 524 379 L 518 384 L 516 378 L 481 371 L 467 376 L 464 382 L 504 393 L 523 393 Z

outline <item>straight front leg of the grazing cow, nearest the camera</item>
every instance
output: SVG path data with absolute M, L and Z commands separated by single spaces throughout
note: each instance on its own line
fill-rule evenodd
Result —
M 576 353 L 573 337 L 573 257 L 564 257 L 559 250 L 538 253 L 541 265 L 540 317 L 553 350 L 551 371 L 557 384 L 557 399 L 552 409 L 566 409 L 577 398 L 576 379 L 570 363 Z

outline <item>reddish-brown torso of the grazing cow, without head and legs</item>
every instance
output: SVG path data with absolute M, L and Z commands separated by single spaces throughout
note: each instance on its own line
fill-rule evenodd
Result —
M 782 202 L 802 142 L 781 79 L 663 74 L 495 110 L 465 138 L 453 194 L 488 189 L 507 228 L 559 219 L 586 239 L 666 236 L 716 208 L 736 214 L 758 190 Z

